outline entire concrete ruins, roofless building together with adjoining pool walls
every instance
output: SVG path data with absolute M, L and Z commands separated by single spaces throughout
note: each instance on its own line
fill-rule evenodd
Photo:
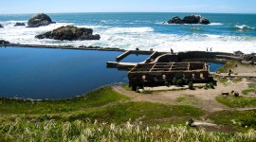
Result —
M 149 55 L 144 62 L 121 62 L 130 54 Z M 210 66 L 206 62 L 242 61 L 243 58 L 233 53 L 224 52 L 157 52 L 126 51 L 117 57 L 116 62 L 107 62 L 107 67 L 128 70 L 129 86 L 133 90 L 144 86 L 172 85 L 174 80 L 186 80 L 198 83 L 212 81 Z M 185 82 L 184 82 L 185 83 Z

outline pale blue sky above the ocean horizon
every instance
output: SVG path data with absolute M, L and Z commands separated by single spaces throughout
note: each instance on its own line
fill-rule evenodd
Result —
M 0 14 L 59 12 L 256 13 L 256 0 L 3 0 Z

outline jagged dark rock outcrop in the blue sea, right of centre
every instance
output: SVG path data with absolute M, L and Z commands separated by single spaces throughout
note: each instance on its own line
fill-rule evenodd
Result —
M 168 21 L 168 24 L 203 24 L 203 25 L 208 25 L 210 24 L 210 21 L 202 17 L 201 15 L 189 15 L 185 16 L 182 20 L 178 17 L 175 16 L 171 20 Z

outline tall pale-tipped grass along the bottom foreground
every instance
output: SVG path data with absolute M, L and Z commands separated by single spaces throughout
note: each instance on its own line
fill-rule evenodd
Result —
M 145 126 L 141 122 L 116 125 L 95 121 L 59 123 L 55 120 L 41 123 L 16 119 L 14 123 L 1 124 L 2 140 L 27 141 L 255 141 L 256 132 L 217 133 L 204 129 L 192 129 L 184 126 Z

